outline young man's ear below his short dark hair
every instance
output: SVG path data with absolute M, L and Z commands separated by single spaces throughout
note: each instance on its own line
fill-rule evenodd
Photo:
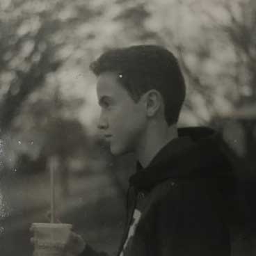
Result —
M 144 95 L 147 116 L 154 116 L 161 108 L 162 97 L 158 90 L 149 90 Z

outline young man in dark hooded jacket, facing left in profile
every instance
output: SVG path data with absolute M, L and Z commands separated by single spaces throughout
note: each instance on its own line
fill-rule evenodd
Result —
M 118 255 L 230 255 L 223 198 L 230 165 L 214 131 L 177 129 L 185 83 L 176 58 L 163 47 L 138 45 L 107 51 L 91 69 L 100 131 L 112 154 L 134 152 L 138 161 Z M 86 245 L 80 255 L 104 253 Z

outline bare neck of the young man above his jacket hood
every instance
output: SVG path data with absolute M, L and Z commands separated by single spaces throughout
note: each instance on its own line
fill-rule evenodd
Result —
M 157 153 L 174 138 L 177 138 L 177 126 L 158 125 L 147 130 L 145 137 L 139 145 L 136 157 L 143 168 L 147 167 Z

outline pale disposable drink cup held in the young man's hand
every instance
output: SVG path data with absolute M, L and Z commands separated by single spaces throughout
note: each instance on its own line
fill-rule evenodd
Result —
M 71 229 L 66 223 L 32 223 L 33 256 L 63 256 Z

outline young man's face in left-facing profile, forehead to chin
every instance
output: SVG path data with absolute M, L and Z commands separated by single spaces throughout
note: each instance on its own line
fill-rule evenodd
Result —
M 147 121 L 143 100 L 134 102 L 121 81 L 122 75 L 115 72 L 104 72 L 97 79 L 101 106 L 98 128 L 114 155 L 138 150 Z

